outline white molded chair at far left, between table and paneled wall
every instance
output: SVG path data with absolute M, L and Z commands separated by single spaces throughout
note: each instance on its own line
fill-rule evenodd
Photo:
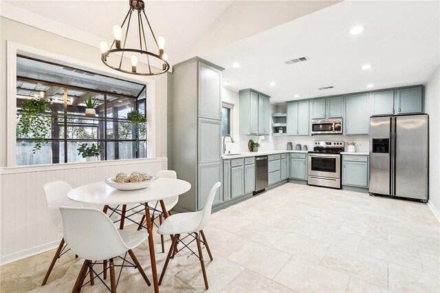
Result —
M 72 190 L 72 187 L 69 184 L 67 184 L 67 182 L 64 181 L 50 182 L 44 184 L 43 190 L 46 196 L 47 211 L 49 213 L 49 224 L 54 230 L 58 232 L 63 232 L 63 221 L 61 220 L 61 214 L 59 208 L 61 206 L 80 207 L 83 205 L 78 202 L 74 202 L 72 199 L 69 199 L 69 197 L 67 197 L 67 193 L 69 193 L 69 191 Z M 54 258 L 52 259 L 52 263 L 50 263 L 49 269 L 47 270 L 46 276 L 41 285 L 45 285 L 47 279 L 49 279 L 50 273 L 54 268 L 56 260 L 59 257 L 61 257 L 61 255 L 63 254 L 63 250 L 65 249 L 64 244 L 65 241 L 63 238 L 61 239 L 60 245 L 58 246 L 58 249 L 55 252 Z

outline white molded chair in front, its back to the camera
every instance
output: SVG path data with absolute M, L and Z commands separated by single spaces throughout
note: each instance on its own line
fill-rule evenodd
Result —
M 118 230 L 113 225 L 113 221 L 96 208 L 61 207 L 60 211 L 63 217 L 64 239 L 66 243 L 69 244 L 78 256 L 85 259 L 72 292 L 81 290 L 87 275 L 87 268 L 89 268 L 90 272 L 94 272 L 94 263 L 92 262 L 96 263 L 96 261 L 102 259 L 109 259 L 110 261 L 111 292 L 116 292 L 113 259 L 126 252 L 130 254 L 137 270 L 142 274 L 147 285 L 151 285 L 142 269 L 142 265 L 137 261 L 133 252 L 133 248 L 136 248 L 148 238 L 147 232 Z

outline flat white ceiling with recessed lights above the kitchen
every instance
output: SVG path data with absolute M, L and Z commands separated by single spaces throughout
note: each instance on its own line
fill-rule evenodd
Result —
M 439 1 L 344 1 L 201 57 L 228 87 L 284 102 L 426 83 L 439 64 Z M 355 25 L 364 32 L 349 34 Z M 306 56 L 307 61 L 285 65 Z M 233 68 L 232 63 L 241 63 Z M 369 63 L 371 69 L 361 69 Z M 274 82 L 276 85 L 270 86 Z M 333 86 L 333 89 L 318 90 Z M 298 95 L 298 97 L 295 97 Z

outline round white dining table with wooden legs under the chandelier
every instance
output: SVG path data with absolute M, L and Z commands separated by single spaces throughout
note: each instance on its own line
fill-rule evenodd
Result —
M 104 213 L 107 213 L 109 206 L 123 206 L 121 226 L 123 228 L 125 208 L 127 204 L 144 204 L 145 219 L 148 231 L 148 247 L 150 250 L 151 271 L 153 273 L 154 291 L 159 292 L 159 284 L 157 281 L 157 269 L 153 243 L 153 225 L 151 223 L 150 210 L 148 202 L 159 201 L 162 206 L 164 217 L 168 217 L 168 211 L 165 209 L 163 199 L 175 197 L 186 193 L 191 188 L 191 184 L 184 180 L 173 178 L 158 178 L 146 188 L 137 189 L 135 191 L 120 191 L 105 184 L 105 182 L 96 182 L 78 186 L 67 193 L 67 197 L 76 202 L 84 204 L 100 204 L 104 205 Z

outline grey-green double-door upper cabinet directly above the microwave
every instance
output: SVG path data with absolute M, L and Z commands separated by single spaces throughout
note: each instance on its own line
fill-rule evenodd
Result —
M 310 100 L 310 119 L 340 118 L 344 116 L 344 96 Z

